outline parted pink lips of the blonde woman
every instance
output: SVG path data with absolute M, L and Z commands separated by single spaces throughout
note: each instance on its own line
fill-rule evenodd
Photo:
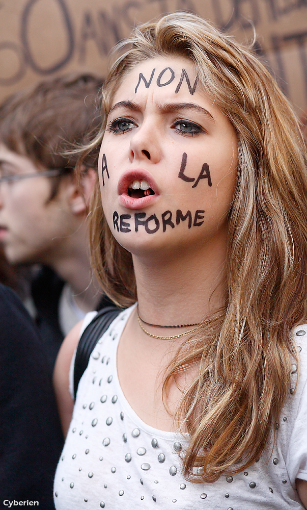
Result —
M 154 195 L 148 195 L 142 198 L 133 198 L 128 195 L 128 186 L 132 183 L 132 181 L 147 181 L 150 188 L 155 193 Z M 145 207 L 148 207 L 154 203 L 158 196 L 159 196 L 159 190 L 154 182 L 151 174 L 147 172 L 146 170 L 143 170 L 142 168 L 135 168 L 132 170 L 128 170 L 125 172 L 117 186 L 117 191 L 119 194 L 119 201 L 122 206 L 126 207 L 127 209 L 144 209 Z

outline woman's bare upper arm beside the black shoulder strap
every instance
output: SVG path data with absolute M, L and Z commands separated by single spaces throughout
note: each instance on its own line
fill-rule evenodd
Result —
M 74 350 L 79 340 L 82 322 L 83 321 L 78 322 L 65 337 L 53 372 L 54 393 L 65 438 L 71 422 L 74 406 L 74 401 L 69 393 L 69 369 Z

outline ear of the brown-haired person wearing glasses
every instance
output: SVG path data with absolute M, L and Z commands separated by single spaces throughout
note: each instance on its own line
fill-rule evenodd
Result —
M 88 212 L 96 179 L 97 171 L 94 168 L 88 168 L 81 172 L 79 183 L 74 180 L 70 193 L 70 209 L 73 214 Z

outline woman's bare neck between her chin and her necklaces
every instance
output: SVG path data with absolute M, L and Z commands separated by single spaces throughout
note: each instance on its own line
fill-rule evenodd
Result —
M 154 324 L 190 324 L 225 305 L 226 247 L 178 251 L 158 259 L 133 256 L 139 314 Z

